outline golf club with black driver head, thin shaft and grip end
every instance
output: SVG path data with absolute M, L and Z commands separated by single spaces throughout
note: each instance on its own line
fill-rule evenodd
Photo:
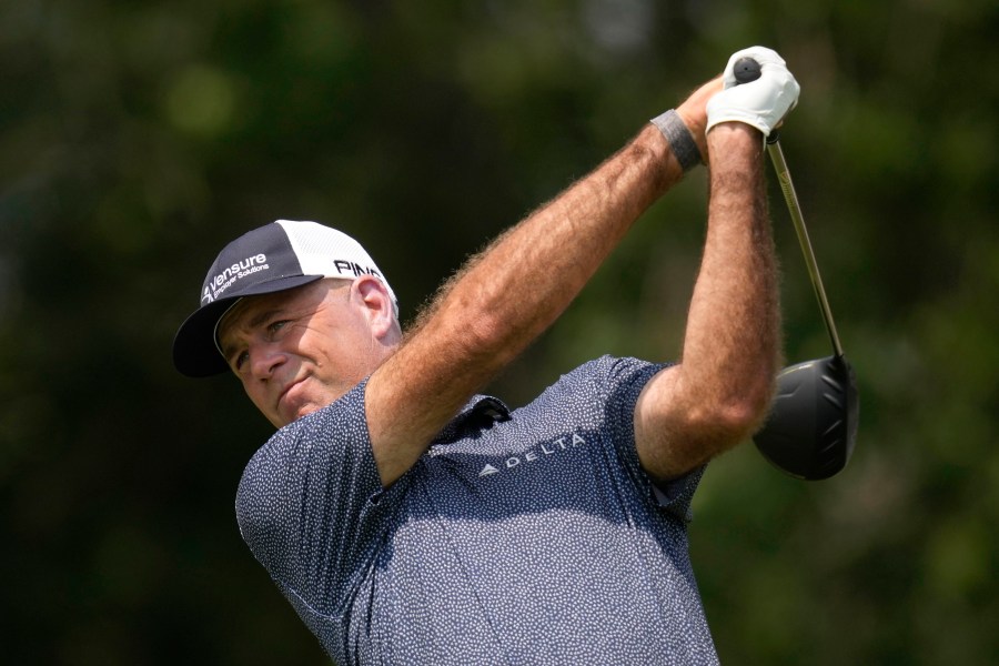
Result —
M 759 75 L 760 67 L 756 60 L 743 58 L 735 63 L 737 83 L 749 83 Z M 753 441 L 764 457 L 779 470 L 798 478 L 818 481 L 842 470 L 854 452 L 859 414 L 857 380 L 842 353 L 776 129 L 767 138 L 767 153 L 805 255 L 811 286 L 833 343 L 833 355 L 791 365 L 777 375 L 770 415 Z

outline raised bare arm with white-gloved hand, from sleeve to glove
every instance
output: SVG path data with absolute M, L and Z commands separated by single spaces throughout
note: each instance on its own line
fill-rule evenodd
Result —
M 693 470 L 745 440 L 766 415 L 779 366 L 777 269 L 764 188 L 763 135 L 798 85 L 768 49 L 761 78 L 709 104 L 708 228 L 680 362 L 656 375 L 635 411 L 638 457 L 654 478 Z

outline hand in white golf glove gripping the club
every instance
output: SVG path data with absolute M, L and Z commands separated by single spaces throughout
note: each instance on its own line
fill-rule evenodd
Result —
M 759 78 L 749 83 L 735 79 L 735 63 L 753 58 L 759 63 Z M 776 51 L 750 47 L 728 59 L 723 74 L 724 89 L 707 103 L 705 133 L 719 122 L 745 122 L 769 137 L 784 117 L 798 103 L 800 87 Z

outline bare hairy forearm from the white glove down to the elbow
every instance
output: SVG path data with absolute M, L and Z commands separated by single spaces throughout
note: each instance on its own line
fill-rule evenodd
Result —
M 688 410 L 739 431 L 751 427 L 770 400 L 779 361 L 777 268 L 759 133 L 747 125 L 719 127 L 708 143 L 707 239 L 684 337 L 679 395 Z

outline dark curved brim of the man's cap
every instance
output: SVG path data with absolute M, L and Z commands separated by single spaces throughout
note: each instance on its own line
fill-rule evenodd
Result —
M 294 289 L 322 279 L 322 275 L 279 278 L 199 307 L 181 324 L 173 339 L 174 367 L 189 377 L 208 377 L 228 371 L 229 364 L 215 346 L 215 326 L 235 301 Z

